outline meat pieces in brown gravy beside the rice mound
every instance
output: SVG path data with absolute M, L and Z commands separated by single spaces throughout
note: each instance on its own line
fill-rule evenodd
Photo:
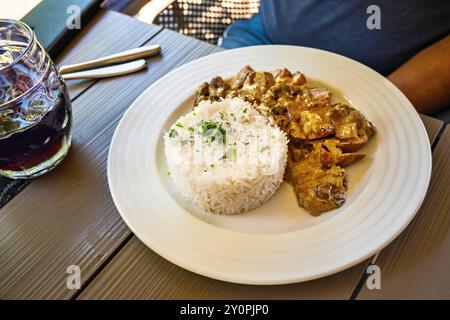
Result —
M 362 113 L 331 96 L 320 82 L 307 83 L 300 72 L 257 72 L 246 66 L 235 77 L 201 84 L 194 105 L 240 97 L 271 116 L 289 136 L 285 180 L 293 185 L 299 205 L 319 215 L 344 203 L 344 168 L 365 156 L 356 151 L 375 134 Z

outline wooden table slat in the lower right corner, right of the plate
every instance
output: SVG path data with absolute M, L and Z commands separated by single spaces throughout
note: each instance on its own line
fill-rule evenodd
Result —
M 358 299 L 450 299 L 450 126 L 433 151 L 425 201 L 408 228 L 376 264 L 381 290 L 364 287 Z

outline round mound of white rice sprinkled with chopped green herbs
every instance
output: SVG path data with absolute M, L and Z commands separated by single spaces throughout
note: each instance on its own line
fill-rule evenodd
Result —
M 209 212 L 257 208 L 283 181 L 286 135 L 239 98 L 201 102 L 172 125 L 164 142 L 176 188 Z

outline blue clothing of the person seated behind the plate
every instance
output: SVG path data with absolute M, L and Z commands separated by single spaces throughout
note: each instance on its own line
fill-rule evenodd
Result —
M 376 13 L 367 9 L 379 8 Z M 375 14 L 375 15 L 374 15 Z M 450 1 L 261 0 L 260 13 L 230 26 L 225 48 L 291 44 L 324 49 L 387 75 L 450 32 Z M 257 36 L 256 36 L 257 35 Z

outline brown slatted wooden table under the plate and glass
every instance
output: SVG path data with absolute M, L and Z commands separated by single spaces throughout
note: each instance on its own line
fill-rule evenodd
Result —
M 170 70 L 222 49 L 155 25 L 102 11 L 58 63 L 73 63 L 148 43 L 162 55 L 148 70 L 116 79 L 71 82 L 73 147 L 53 172 L 0 209 L 0 298 L 20 299 L 378 299 L 450 298 L 450 128 L 422 116 L 433 145 L 433 175 L 414 221 L 377 257 L 382 289 L 365 286 L 367 260 L 306 283 L 249 286 L 183 270 L 144 246 L 117 212 L 106 161 L 115 127 L 133 100 Z M 81 268 L 80 290 L 66 286 Z

